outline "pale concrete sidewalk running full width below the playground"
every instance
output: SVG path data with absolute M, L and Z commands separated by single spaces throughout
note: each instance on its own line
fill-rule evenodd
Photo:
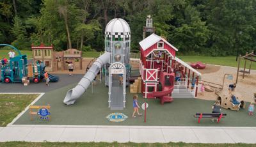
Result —
M 11 125 L 0 142 L 256 143 L 256 127 Z

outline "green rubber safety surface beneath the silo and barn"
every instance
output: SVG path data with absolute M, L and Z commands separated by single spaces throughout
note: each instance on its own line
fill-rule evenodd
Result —
M 196 112 L 211 112 L 213 101 L 198 99 L 174 99 L 172 103 L 161 105 L 158 99 L 144 99 L 141 94 L 138 103 L 141 105 L 147 101 L 147 123 L 144 123 L 143 116 L 132 118 L 132 96 L 127 88 L 127 102 L 124 111 L 111 111 L 108 107 L 108 87 L 104 83 L 97 83 L 96 86 L 88 88 L 86 93 L 77 100 L 74 105 L 63 104 L 68 89 L 74 88 L 76 84 L 71 84 L 60 89 L 55 89 L 45 93 L 35 105 L 51 105 L 51 121 L 42 121 L 36 118 L 30 121 L 28 111 L 25 112 L 15 125 L 150 125 L 150 126 L 229 126 L 229 127 L 255 127 L 256 116 L 248 116 L 247 109 L 241 111 L 230 111 L 222 109 L 227 113 L 220 123 L 211 122 L 210 118 L 202 118 L 198 123 L 194 118 Z M 122 93 L 120 93 L 122 95 Z M 128 116 L 125 121 L 108 121 L 106 116 L 113 112 L 121 112 Z

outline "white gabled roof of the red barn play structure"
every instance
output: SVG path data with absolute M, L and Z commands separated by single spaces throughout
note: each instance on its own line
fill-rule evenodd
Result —
M 145 38 L 144 40 L 142 40 L 139 44 L 143 50 L 146 50 L 148 49 L 148 47 L 151 47 L 152 45 L 159 42 L 160 40 L 163 40 L 164 43 L 168 44 L 174 50 L 178 51 L 178 49 L 174 47 L 171 43 L 167 42 L 166 40 L 164 40 L 164 38 L 161 38 L 161 36 L 158 36 L 154 33 L 148 36 L 147 38 Z

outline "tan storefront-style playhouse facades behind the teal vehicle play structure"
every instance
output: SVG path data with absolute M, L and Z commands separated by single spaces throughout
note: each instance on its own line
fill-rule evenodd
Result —
M 45 70 L 56 72 L 58 70 L 68 70 L 68 63 L 74 64 L 74 69 L 82 69 L 82 51 L 77 49 L 68 49 L 61 52 L 54 51 L 54 47 L 45 46 L 41 43 L 40 46 L 31 46 L 33 52 L 34 63 L 44 63 Z

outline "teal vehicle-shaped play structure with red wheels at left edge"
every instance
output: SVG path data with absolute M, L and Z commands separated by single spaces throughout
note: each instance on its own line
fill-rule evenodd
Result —
M 44 79 L 45 65 L 43 63 L 28 63 L 26 55 L 22 55 L 20 50 L 8 44 L 0 44 L 0 46 L 8 46 L 15 50 L 18 55 L 10 58 L 6 63 L 1 63 L 1 81 L 5 83 L 22 82 L 22 78 L 31 79 L 38 83 Z M 48 74 L 51 82 L 56 82 L 59 77 Z

